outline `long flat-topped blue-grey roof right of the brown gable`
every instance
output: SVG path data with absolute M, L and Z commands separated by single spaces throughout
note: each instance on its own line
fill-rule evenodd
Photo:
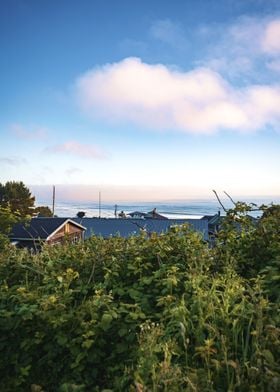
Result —
M 188 223 L 195 231 L 201 232 L 204 239 L 208 239 L 207 219 L 116 219 L 116 218 L 73 218 L 87 228 L 85 238 L 92 235 L 108 238 L 120 235 L 130 237 L 139 234 L 141 229 L 158 234 L 166 232 L 171 226 Z

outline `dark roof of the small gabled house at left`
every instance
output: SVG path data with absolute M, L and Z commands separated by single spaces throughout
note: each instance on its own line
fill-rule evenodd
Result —
M 63 226 L 67 221 L 79 225 L 69 218 L 32 218 L 30 222 L 14 225 L 9 237 L 15 239 L 41 239 L 46 240 L 53 232 Z M 83 228 L 85 230 L 85 228 Z

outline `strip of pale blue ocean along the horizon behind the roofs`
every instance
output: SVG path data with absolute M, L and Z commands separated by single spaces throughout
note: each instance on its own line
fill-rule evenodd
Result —
M 239 200 L 247 203 L 261 204 L 280 204 L 280 198 L 275 197 L 263 197 L 263 198 L 239 198 Z M 221 199 L 226 209 L 233 208 L 232 202 L 227 199 Z M 50 208 L 51 202 L 39 200 L 36 205 L 48 205 Z M 213 199 L 192 199 L 185 201 L 167 201 L 167 202 L 122 202 L 117 204 L 117 213 L 124 211 L 129 213 L 132 211 L 149 212 L 153 208 L 159 214 L 162 214 L 168 218 L 200 218 L 204 215 L 214 215 L 220 211 L 223 215 L 224 211 L 219 204 L 218 200 Z M 75 217 L 79 211 L 86 213 L 86 217 L 102 217 L 111 218 L 115 216 L 115 204 L 113 203 L 102 203 L 100 208 L 96 202 L 79 202 L 79 201 L 56 201 L 55 203 L 55 215 L 59 217 Z M 259 216 L 260 212 L 254 211 L 251 213 L 253 216 Z

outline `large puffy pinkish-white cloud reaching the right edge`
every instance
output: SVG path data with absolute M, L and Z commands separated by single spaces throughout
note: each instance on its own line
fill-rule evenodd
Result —
M 280 87 L 234 88 L 207 68 L 179 72 L 127 58 L 82 75 L 80 105 L 90 115 L 193 133 L 257 130 L 280 120 Z

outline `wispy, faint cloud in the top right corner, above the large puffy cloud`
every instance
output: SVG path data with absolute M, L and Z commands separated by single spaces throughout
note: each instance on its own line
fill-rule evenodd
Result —
M 280 19 L 276 16 L 242 16 L 231 25 L 206 26 L 198 34 L 206 47 L 201 45 L 202 57 L 197 64 L 243 84 L 275 77 L 267 70 L 277 71 L 280 60 Z

